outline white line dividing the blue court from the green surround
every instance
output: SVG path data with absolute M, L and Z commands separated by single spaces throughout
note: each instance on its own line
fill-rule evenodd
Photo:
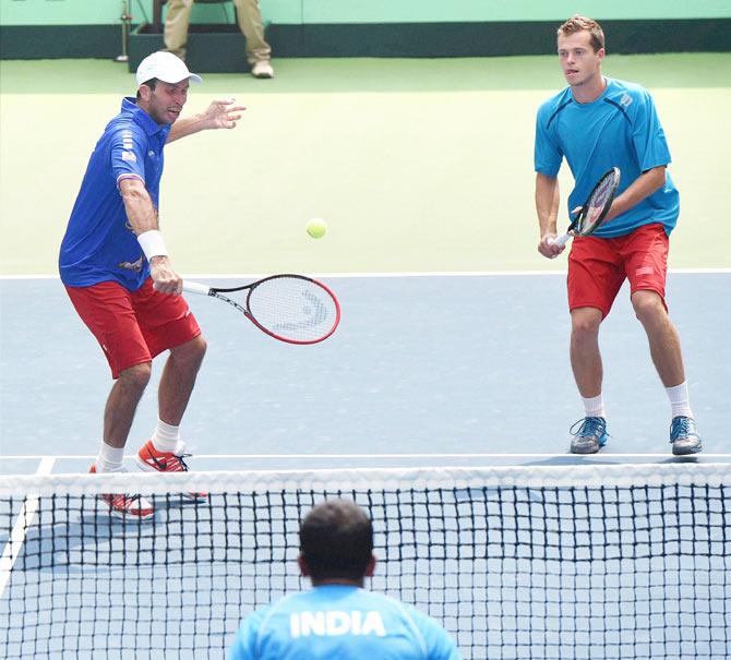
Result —
M 671 275 L 731 274 L 731 268 L 670 268 Z M 191 279 L 259 279 L 271 273 L 185 273 Z M 313 277 L 525 277 L 529 275 L 566 275 L 566 271 L 408 271 L 404 273 L 311 273 Z M 58 275 L 0 275 L 0 279 L 58 279 Z

